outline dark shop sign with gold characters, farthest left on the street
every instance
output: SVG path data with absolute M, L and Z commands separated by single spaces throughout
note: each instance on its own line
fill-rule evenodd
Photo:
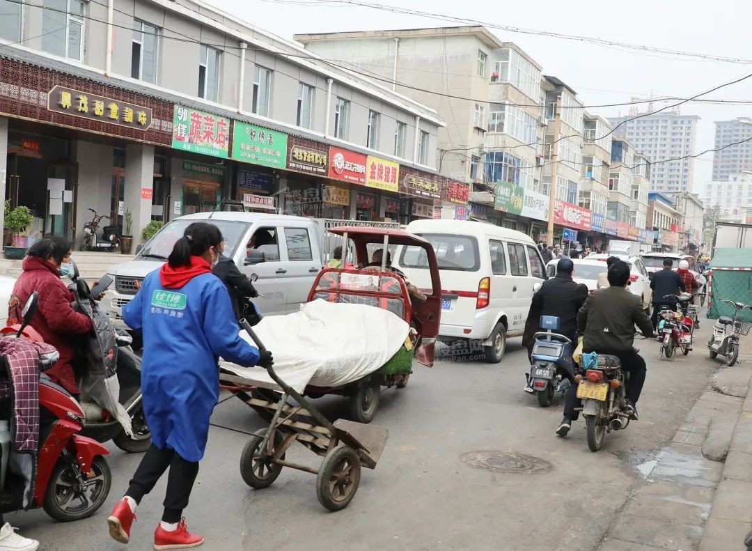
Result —
M 151 126 L 151 109 L 73 90 L 60 85 L 47 93 L 47 110 L 65 113 L 74 117 L 99 120 L 146 132 Z M 173 145 L 174 147 L 174 145 Z

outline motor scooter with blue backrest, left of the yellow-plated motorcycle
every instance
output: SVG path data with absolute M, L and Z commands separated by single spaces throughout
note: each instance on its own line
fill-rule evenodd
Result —
M 530 357 L 530 373 L 526 373 L 525 391 L 538 396 L 538 404 L 548 407 L 553 403 L 556 392 L 564 394 L 569 388 L 569 381 L 575 377 L 575 365 L 572 353 L 575 352 L 572 341 L 554 333 L 559 330 L 559 318 L 553 315 L 541 315 L 541 329 L 535 333 L 535 343 Z

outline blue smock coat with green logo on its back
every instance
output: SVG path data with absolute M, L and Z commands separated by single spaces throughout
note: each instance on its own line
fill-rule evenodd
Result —
M 204 273 L 165 288 L 154 270 L 123 306 L 123 321 L 144 339 L 141 391 L 152 443 L 199 461 L 219 398 L 219 356 L 246 367 L 259 361 L 238 335 L 225 285 Z

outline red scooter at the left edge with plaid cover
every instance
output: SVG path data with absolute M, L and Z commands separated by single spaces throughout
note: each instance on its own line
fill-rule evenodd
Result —
M 23 307 L 23 323 L 5 327 L 2 333 L 15 333 L 31 342 L 42 342 L 29 321 L 38 308 L 38 293 L 33 293 Z M 5 356 L 0 361 L 6 361 Z M 42 367 L 57 361 L 41 355 Z M 10 468 L 5 488 L 0 490 L 0 512 L 41 507 L 53 519 L 71 521 L 96 513 L 107 499 L 112 473 L 105 455 L 109 450 L 96 440 L 82 437 L 83 411 L 76 400 L 44 373 L 39 379 L 39 451 L 34 479 L 34 494 L 27 499 L 26 481 Z M 27 496 L 28 497 L 28 496 Z M 30 502 L 29 502 L 30 501 Z

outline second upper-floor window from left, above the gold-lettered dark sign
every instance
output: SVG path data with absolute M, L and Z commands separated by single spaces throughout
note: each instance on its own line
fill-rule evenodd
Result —
M 83 61 L 83 2 L 44 0 L 42 50 Z

